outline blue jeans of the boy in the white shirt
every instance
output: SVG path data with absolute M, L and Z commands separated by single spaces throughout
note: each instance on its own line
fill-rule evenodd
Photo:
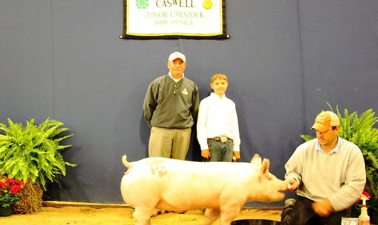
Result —
M 209 146 L 209 159 L 203 158 L 204 162 L 232 162 L 234 145 L 232 140 L 226 142 L 207 140 Z

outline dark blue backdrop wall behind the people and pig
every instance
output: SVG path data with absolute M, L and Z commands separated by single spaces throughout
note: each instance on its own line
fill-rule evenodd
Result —
M 125 40 L 122 0 L 1 0 L 0 122 L 50 117 L 74 134 L 63 157 L 78 166 L 45 200 L 123 202 L 121 157 L 147 157 L 144 94 L 174 51 L 201 100 L 212 74 L 228 75 L 240 161 L 258 153 L 280 179 L 327 103 L 378 111 L 377 0 L 226 0 L 226 11 L 226 40 Z M 187 160 L 198 161 L 194 133 Z

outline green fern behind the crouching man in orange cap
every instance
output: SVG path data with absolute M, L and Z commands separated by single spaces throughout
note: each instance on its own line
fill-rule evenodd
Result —
M 333 109 L 328 104 L 331 111 Z M 368 109 L 358 115 L 357 112 L 349 114 L 344 110 L 344 117 L 340 114 L 336 106 L 337 116 L 340 120 L 339 136 L 356 144 L 364 157 L 366 170 L 365 191 L 370 194 L 370 199 L 366 201 L 368 214 L 373 224 L 378 224 L 378 129 L 374 125 L 378 122 L 375 112 Z M 305 141 L 314 139 L 311 135 L 300 135 Z M 352 207 L 352 211 L 359 213 L 361 202 Z M 359 215 L 359 214 L 358 214 Z

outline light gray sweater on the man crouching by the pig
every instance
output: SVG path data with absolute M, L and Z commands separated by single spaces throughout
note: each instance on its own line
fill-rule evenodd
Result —
M 328 198 L 335 211 L 353 205 L 366 182 L 361 150 L 340 139 L 340 147 L 333 154 L 315 150 L 316 138 L 307 141 L 299 145 L 285 165 L 285 178 L 294 177 L 299 181 L 297 195 L 314 201 Z

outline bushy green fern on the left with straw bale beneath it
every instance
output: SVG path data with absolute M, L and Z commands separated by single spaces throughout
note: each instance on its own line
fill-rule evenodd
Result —
M 8 123 L 9 126 L 0 123 L 0 130 L 5 132 L 0 134 L 0 175 L 25 182 L 14 212 L 35 212 L 42 204 L 47 182 L 58 182 L 60 175 L 65 176 L 66 165 L 76 166 L 64 162 L 60 153 L 71 145 L 59 142 L 72 135 L 62 136 L 68 128 L 60 128 L 62 122 L 49 118 L 38 126 L 34 119 L 27 121 L 26 126 L 11 119 Z

